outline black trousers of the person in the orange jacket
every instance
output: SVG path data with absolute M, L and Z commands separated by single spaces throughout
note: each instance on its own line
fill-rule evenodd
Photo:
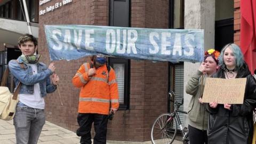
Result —
M 81 114 L 77 116 L 79 128 L 76 134 L 81 137 L 80 143 L 91 144 L 91 129 L 94 123 L 95 136 L 93 138 L 94 144 L 106 144 L 107 142 L 107 124 L 108 115 L 101 114 Z

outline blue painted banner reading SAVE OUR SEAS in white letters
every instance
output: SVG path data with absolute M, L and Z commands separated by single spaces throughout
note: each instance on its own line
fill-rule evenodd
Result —
M 45 25 L 45 34 L 51 60 L 99 53 L 153 61 L 203 60 L 204 33 L 199 29 Z

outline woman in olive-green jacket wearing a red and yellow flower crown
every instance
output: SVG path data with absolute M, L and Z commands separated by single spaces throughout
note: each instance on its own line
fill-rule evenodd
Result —
M 190 144 L 207 143 L 209 114 L 205 109 L 204 103 L 202 103 L 202 96 L 206 77 L 212 76 L 218 69 L 219 55 L 219 51 L 214 49 L 207 50 L 204 61 L 186 85 L 186 93 L 193 96 L 188 106 L 188 135 Z

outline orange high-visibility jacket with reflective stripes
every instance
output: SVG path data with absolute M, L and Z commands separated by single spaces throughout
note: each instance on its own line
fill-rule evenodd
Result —
M 104 65 L 96 70 L 92 77 L 88 76 L 90 63 L 84 63 L 73 77 L 73 84 L 81 87 L 78 113 L 97 113 L 108 115 L 109 107 L 118 109 L 118 87 L 115 71 L 109 71 Z

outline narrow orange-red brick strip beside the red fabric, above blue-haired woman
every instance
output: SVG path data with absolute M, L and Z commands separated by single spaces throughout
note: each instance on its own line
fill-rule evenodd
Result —
M 234 43 L 237 45 L 240 45 L 240 17 L 240 0 L 234 0 Z

